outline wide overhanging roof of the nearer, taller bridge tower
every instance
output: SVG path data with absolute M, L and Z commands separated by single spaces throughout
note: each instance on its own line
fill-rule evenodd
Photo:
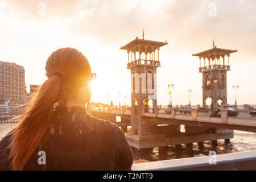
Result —
M 168 44 L 167 42 L 158 42 L 153 40 L 145 40 L 145 39 L 134 39 L 133 41 L 127 43 L 125 46 L 121 46 L 120 49 L 127 50 L 127 51 L 136 51 L 138 46 L 151 46 L 151 47 L 162 47 L 164 45 Z

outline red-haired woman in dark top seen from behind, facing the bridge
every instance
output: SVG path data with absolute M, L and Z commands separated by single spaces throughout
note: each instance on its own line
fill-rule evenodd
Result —
M 0 142 L 2 170 L 129 169 L 133 155 L 122 131 L 86 113 L 90 64 L 74 48 L 53 52 L 46 80 L 19 125 Z

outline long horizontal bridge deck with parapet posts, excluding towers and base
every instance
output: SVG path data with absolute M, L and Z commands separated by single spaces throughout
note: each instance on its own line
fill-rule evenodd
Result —
M 131 126 L 130 115 L 131 112 L 127 110 L 92 110 L 92 115 L 101 119 L 107 119 L 117 126 Z M 201 114 L 197 109 L 192 109 L 192 114 L 177 114 L 176 109 L 173 108 L 171 114 L 163 113 L 143 113 L 142 117 L 150 125 L 185 125 L 198 127 L 214 127 L 220 129 L 241 130 L 256 133 L 256 118 L 236 118 L 228 117 L 228 110 L 221 110 L 221 118 L 209 117 L 209 114 Z M 121 121 L 117 121 L 120 117 Z

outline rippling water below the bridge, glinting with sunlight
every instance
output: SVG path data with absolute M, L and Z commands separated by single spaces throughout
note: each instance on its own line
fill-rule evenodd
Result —
M 13 130 L 16 125 L 18 125 L 18 123 L 0 123 L 0 140 Z M 206 141 L 204 142 L 204 148 L 199 148 L 197 143 L 193 143 L 191 148 L 183 144 L 181 148 L 168 146 L 144 150 L 132 149 L 134 160 L 145 159 L 148 161 L 191 158 L 201 154 L 208 155 L 209 151 L 212 150 L 216 151 L 217 154 L 250 151 L 256 150 L 256 133 L 234 130 L 234 138 L 230 139 L 229 144 L 226 144 L 224 140 L 218 140 L 216 147 L 212 147 L 212 144 Z

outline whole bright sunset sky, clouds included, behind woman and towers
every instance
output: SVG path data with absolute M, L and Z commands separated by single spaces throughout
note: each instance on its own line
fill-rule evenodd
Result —
M 51 52 L 77 48 L 97 73 L 92 101 L 108 102 L 109 93 L 118 105 L 121 92 L 121 104 L 124 96 L 130 104 L 127 52 L 119 48 L 142 38 L 143 28 L 145 39 L 168 42 L 160 49 L 159 105 L 168 104 L 169 83 L 173 105 L 188 104 L 188 89 L 191 104 L 202 104 L 192 53 L 212 48 L 213 38 L 219 48 L 238 50 L 230 56 L 228 103 L 234 104 L 232 85 L 240 85 L 237 104 L 256 104 L 255 0 L 0 0 L 0 60 L 23 65 L 28 86 L 42 84 Z

